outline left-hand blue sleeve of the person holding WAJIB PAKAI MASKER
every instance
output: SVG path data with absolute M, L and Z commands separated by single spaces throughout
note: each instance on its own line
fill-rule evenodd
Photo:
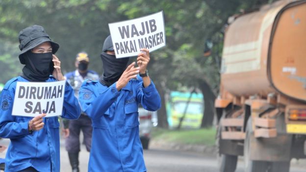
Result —
M 79 101 L 83 111 L 91 118 L 100 118 L 120 95 L 116 83 L 99 92 L 95 82 L 84 81 L 79 91 Z

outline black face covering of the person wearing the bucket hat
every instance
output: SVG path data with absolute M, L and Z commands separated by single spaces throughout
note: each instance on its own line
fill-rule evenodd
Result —
M 26 66 L 23 68 L 23 77 L 29 81 L 42 82 L 49 78 L 54 71 L 52 52 L 33 53 L 27 51 L 24 54 Z

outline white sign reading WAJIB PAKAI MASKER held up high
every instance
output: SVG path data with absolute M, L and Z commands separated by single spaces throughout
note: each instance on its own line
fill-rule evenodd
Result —
M 108 24 L 116 58 L 136 56 L 166 45 L 163 11 L 133 20 Z

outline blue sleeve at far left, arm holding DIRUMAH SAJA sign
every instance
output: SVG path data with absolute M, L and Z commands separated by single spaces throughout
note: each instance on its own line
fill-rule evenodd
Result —
M 2 90 L 0 96 L 0 137 L 1 138 L 18 138 L 30 134 L 27 126 L 28 121 L 16 122 L 16 116 L 12 116 L 14 90 Z M 22 117 L 21 117 L 22 118 Z

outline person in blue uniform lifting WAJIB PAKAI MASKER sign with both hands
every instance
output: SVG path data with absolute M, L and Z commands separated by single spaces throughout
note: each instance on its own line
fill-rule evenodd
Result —
M 104 72 L 100 80 L 87 80 L 81 86 L 79 101 L 93 123 L 88 172 L 147 171 L 139 138 L 138 105 L 156 111 L 161 102 L 147 71 L 149 50 L 140 50 L 138 67 L 135 62 L 128 65 L 128 58 L 116 58 L 108 36 L 102 48 Z

